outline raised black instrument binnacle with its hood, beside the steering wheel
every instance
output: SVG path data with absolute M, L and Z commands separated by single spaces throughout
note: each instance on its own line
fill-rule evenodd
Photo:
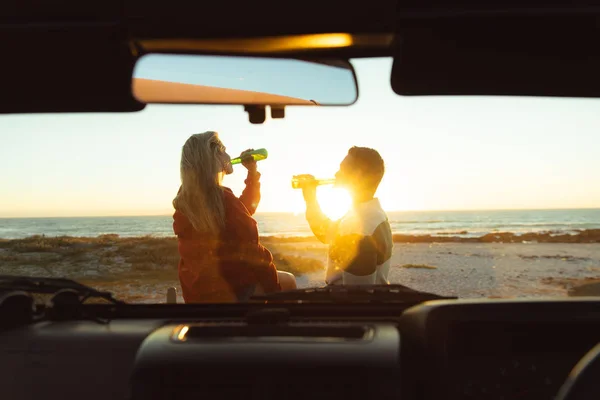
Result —
M 400 322 L 405 362 L 418 368 L 407 381 L 425 398 L 553 399 L 600 342 L 599 305 L 566 299 L 413 308 Z

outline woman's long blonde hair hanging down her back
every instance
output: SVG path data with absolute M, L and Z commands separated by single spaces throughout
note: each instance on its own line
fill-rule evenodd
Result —
M 173 207 L 199 232 L 218 234 L 225 225 L 219 155 L 225 152 L 217 132 L 196 133 L 181 149 L 181 188 Z

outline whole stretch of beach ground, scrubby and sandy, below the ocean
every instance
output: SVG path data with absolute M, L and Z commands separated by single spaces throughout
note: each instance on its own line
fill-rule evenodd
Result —
M 589 235 L 581 237 L 569 243 L 396 237 L 389 278 L 391 283 L 466 298 L 580 295 L 580 285 L 600 282 L 600 243 Z M 278 269 L 294 273 L 300 287 L 324 285 L 325 245 L 309 238 L 271 237 L 263 242 Z M 177 262 L 175 238 L 0 240 L 0 274 L 68 277 L 127 302 L 164 302 L 167 288 L 179 287 Z

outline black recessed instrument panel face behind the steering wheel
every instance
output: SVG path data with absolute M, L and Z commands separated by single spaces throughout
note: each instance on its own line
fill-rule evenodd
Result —
M 551 399 L 600 338 L 598 322 L 463 322 L 449 331 L 448 382 L 464 398 Z

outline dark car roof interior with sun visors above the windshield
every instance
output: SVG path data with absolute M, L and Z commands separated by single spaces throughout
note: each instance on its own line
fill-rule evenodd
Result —
M 304 1 L 284 11 L 275 1 L 4 2 L 0 112 L 142 110 L 131 74 L 148 51 L 395 57 L 390 81 L 400 95 L 600 95 L 597 6 L 484 3 Z M 309 40 L 319 34 L 351 40 Z

